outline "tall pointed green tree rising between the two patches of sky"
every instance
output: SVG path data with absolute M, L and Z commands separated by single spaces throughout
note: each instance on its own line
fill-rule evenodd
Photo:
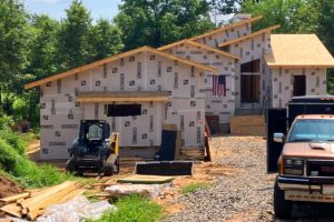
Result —
M 82 65 L 94 58 L 94 49 L 89 43 L 91 18 L 88 10 L 79 0 L 73 0 L 66 13 L 58 46 L 62 70 Z

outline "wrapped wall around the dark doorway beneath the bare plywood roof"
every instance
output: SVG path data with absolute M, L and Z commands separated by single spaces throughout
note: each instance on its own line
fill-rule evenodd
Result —
M 306 95 L 326 94 L 326 69 L 277 68 L 269 69 L 273 75 L 273 108 L 284 108 L 293 97 L 294 75 L 306 75 Z

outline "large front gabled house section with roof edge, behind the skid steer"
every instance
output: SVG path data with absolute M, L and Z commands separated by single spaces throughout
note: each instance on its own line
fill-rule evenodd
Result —
M 164 124 L 204 147 L 205 72 L 213 68 L 143 47 L 31 82 L 40 87 L 41 159 L 67 159 L 82 119 L 119 132 L 120 155 L 153 158 Z M 149 149 L 148 149 L 149 148 Z

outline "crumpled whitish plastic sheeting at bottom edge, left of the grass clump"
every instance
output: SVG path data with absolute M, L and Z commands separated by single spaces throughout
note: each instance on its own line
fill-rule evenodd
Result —
M 42 216 L 38 218 L 37 222 L 80 222 L 85 219 L 99 219 L 106 211 L 116 211 L 117 208 L 108 203 L 108 201 L 99 201 L 90 203 L 84 195 L 78 195 L 75 199 L 47 208 Z

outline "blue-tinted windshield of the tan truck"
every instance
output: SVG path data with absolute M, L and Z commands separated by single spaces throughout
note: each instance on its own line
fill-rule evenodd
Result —
M 297 120 L 288 139 L 296 141 L 334 141 L 334 120 Z

